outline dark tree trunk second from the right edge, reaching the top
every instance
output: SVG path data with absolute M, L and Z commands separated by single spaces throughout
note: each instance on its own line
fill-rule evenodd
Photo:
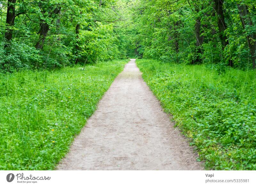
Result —
M 217 19 L 218 19 L 218 27 L 219 27 L 219 32 L 220 32 L 220 40 L 222 43 L 222 49 L 224 50 L 224 48 L 229 44 L 229 42 L 228 42 L 228 38 L 225 34 L 227 25 L 226 25 L 225 19 L 224 19 L 223 1 L 224 0 L 215 0 L 215 11 L 217 14 Z M 233 62 L 231 59 L 229 60 L 228 65 L 233 66 Z

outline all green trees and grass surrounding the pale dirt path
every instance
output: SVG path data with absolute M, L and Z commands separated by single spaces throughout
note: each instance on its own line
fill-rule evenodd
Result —
M 256 1 L 1 0 L 0 16 L 1 170 L 54 169 L 129 58 L 205 169 L 256 169 Z

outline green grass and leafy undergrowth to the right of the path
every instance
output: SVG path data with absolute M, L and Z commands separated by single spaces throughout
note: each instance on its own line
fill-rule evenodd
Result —
M 256 71 L 136 63 L 206 169 L 256 170 Z

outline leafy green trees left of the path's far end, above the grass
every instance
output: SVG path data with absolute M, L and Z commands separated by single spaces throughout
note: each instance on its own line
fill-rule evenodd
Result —
M 0 72 L 126 58 L 116 0 L 6 0 L 0 9 Z

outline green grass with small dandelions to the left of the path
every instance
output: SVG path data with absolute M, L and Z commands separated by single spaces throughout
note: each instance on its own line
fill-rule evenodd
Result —
M 128 61 L 0 74 L 0 169 L 54 169 Z

